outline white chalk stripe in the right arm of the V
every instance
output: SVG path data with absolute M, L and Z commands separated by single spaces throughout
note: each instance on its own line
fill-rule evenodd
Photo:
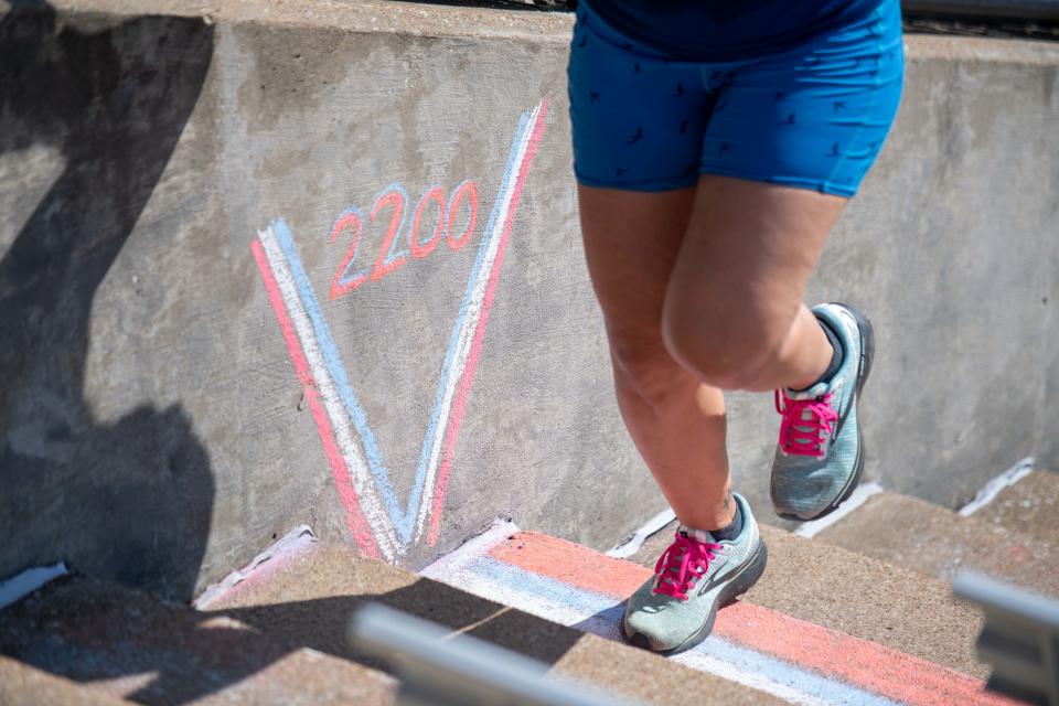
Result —
M 518 171 L 522 169 L 522 162 L 526 157 L 526 148 L 530 145 L 530 138 L 533 135 L 534 127 L 541 114 L 541 104 L 533 109 L 530 119 L 526 121 L 523 135 L 518 138 L 517 157 L 511 170 L 512 178 L 505 184 L 504 194 L 501 201 L 496 218 L 493 221 L 493 232 L 488 234 L 489 245 L 482 268 L 478 272 L 478 279 L 474 281 L 474 289 L 468 303 L 467 314 L 463 317 L 463 325 L 460 329 L 459 342 L 457 343 L 456 364 L 449 370 L 449 377 L 446 381 L 445 396 L 441 402 L 441 413 L 439 415 L 440 424 L 435 432 L 434 443 L 430 449 L 430 460 L 427 463 L 426 480 L 424 482 L 424 492 L 419 502 L 419 512 L 416 518 L 416 541 L 418 541 L 426 528 L 426 521 L 434 506 L 434 496 L 437 492 L 435 488 L 435 475 L 437 474 L 438 463 L 441 459 L 441 449 L 445 443 L 446 431 L 449 425 L 449 414 L 452 407 L 452 398 L 456 395 L 456 388 L 463 375 L 463 368 L 467 365 L 467 359 L 471 351 L 471 344 L 474 340 L 474 332 L 478 329 L 478 321 L 482 314 L 482 302 L 485 298 L 485 288 L 489 284 L 489 276 L 492 272 L 493 265 L 496 261 L 496 253 L 500 248 L 501 236 L 504 232 L 504 225 L 507 221 L 507 211 L 511 207 L 512 195 L 515 185 L 518 183 Z

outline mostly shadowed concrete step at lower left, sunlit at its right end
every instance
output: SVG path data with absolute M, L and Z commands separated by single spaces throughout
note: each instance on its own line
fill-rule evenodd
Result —
M 6 664 L 18 660 L 57 675 L 53 680 L 69 680 L 65 685 L 77 694 L 45 698 L 38 687 L 46 680 L 20 671 L 20 682 L 10 687 L 13 698 L 2 703 L 367 705 L 392 703 L 395 689 L 381 672 L 232 618 L 78 576 L 47 584 L 0 611 L 0 654 Z M 49 681 L 47 688 L 63 687 Z

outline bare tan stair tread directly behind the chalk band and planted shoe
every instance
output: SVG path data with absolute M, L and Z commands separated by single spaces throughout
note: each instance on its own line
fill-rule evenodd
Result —
M 988 675 L 974 652 L 981 617 L 955 600 L 948 585 L 842 547 L 759 526 L 769 565 L 745 596 L 747 601 L 965 674 Z M 673 522 L 630 560 L 653 569 L 675 531 Z

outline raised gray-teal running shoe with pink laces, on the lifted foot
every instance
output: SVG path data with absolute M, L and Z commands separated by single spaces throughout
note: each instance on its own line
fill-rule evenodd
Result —
M 864 473 L 860 389 L 871 370 L 871 324 L 846 304 L 826 303 L 813 313 L 842 342 L 843 360 L 830 381 L 805 391 L 775 391 L 783 419 L 772 462 L 772 506 L 781 517 L 816 520 L 853 493 Z

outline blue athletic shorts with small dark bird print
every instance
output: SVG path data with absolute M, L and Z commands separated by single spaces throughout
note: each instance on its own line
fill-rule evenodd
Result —
M 900 3 L 781 54 L 704 63 L 624 36 L 581 0 L 567 73 L 582 184 L 665 191 L 721 174 L 848 197 L 900 101 Z

